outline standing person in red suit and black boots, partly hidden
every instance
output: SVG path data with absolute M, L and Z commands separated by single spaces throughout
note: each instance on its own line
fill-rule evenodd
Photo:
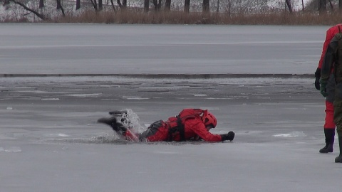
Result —
M 321 68 L 323 63 L 324 55 L 326 54 L 326 50 L 328 48 L 328 45 L 335 36 L 336 33 L 341 33 L 342 25 L 338 24 L 336 26 L 332 26 L 331 28 L 328 28 L 326 31 L 326 41 L 323 43 L 323 49 L 321 54 L 321 59 L 318 62 L 318 68 L 315 73 L 315 87 L 317 90 L 320 90 L 319 85 L 319 78 L 321 78 Z M 324 135 L 326 137 L 326 146 L 324 146 L 321 150 L 319 150 L 320 153 L 331 153 L 333 152 L 333 142 L 335 139 L 335 127 L 336 124 L 333 122 L 333 100 L 335 98 L 335 80 L 333 78 L 333 75 L 328 79 L 328 83 L 326 85 L 326 92 L 328 93 L 328 96 L 326 97 L 326 118 L 324 123 Z

